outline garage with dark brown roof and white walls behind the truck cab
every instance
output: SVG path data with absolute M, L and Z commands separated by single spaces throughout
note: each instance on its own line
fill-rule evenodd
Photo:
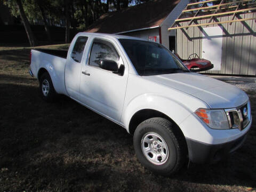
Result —
M 86 30 L 122 34 L 162 43 L 175 50 L 175 30 L 168 31 L 189 0 L 155 0 L 103 14 Z

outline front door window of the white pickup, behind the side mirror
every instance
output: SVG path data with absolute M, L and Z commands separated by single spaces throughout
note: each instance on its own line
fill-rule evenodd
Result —
M 113 60 L 116 63 L 119 61 L 119 54 L 117 53 L 113 44 L 102 39 L 94 39 L 89 65 L 99 67 L 101 60 Z

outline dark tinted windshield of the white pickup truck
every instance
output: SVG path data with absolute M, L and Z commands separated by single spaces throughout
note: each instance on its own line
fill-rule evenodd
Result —
M 189 70 L 164 46 L 154 42 L 119 39 L 141 76 L 184 73 Z

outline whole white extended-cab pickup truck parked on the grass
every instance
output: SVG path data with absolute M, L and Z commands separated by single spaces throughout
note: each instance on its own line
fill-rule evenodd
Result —
M 34 49 L 30 57 L 44 100 L 65 94 L 124 127 L 139 161 L 158 174 L 177 172 L 188 159 L 219 161 L 252 124 L 245 92 L 191 73 L 158 43 L 78 33 L 68 51 Z

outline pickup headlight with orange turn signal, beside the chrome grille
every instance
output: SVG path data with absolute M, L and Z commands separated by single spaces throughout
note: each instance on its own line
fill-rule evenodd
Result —
M 228 118 L 223 109 L 197 109 L 195 114 L 212 129 L 229 129 Z

